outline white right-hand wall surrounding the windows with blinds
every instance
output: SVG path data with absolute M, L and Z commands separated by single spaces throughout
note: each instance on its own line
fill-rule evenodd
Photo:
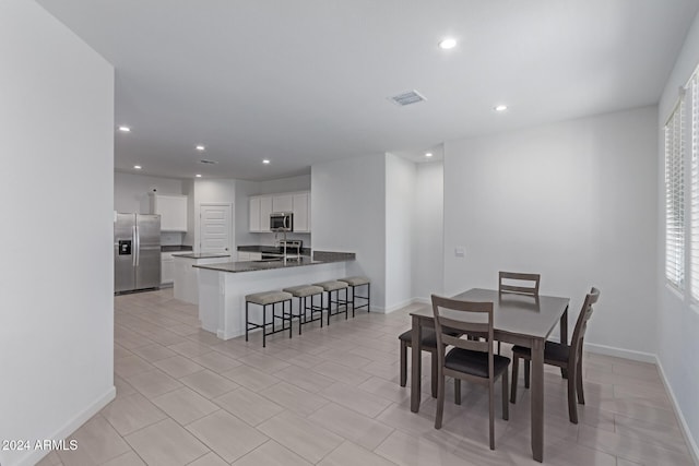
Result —
M 659 308 L 656 332 L 657 358 L 668 382 L 671 393 L 682 411 L 683 422 L 690 431 L 695 458 L 699 458 L 699 369 L 695 355 L 699 354 L 699 310 L 686 298 L 678 297 L 665 285 L 665 192 L 663 130 L 676 100 L 677 89 L 684 86 L 699 64 L 699 15 L 687 34 L 659 105 L 657 144 L 657 287 Z

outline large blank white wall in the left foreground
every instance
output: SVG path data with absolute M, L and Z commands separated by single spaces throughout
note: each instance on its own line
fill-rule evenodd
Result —
M 0 2 L 0 439 L 58 440 L 115 396 L 114 70 L 24 0 Z

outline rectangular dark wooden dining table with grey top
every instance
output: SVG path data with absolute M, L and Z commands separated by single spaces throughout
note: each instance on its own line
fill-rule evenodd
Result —
M 544 461 L 544 345 L 556 325 L 560 325 L 560 342 L 568 343 L 569 298 L 528 296 L 473 288 L 452 297 L 464 301 L 493 302 L 494 338 L 524 346 L 532 350 L 531 423 L 532 456 Z M 412 312 L 411 410 L 417 413 L 420 403 L 420 342 L 423 327 L 435 326 L 431 307 Z

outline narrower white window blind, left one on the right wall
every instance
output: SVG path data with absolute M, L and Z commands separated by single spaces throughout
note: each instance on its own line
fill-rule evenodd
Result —
M 665 124 L 665 277 L 685 288 L 684 98 Z

